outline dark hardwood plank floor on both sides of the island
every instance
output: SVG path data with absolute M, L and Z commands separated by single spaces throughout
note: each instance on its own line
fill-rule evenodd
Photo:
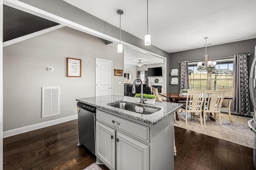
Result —
M 175 137 L 175 170 L 254 169 L 253 149 L 179 127 Z M 77 120 L 5 138 L 4 170 L 82 170 L 96 160 L 77 143 Z

